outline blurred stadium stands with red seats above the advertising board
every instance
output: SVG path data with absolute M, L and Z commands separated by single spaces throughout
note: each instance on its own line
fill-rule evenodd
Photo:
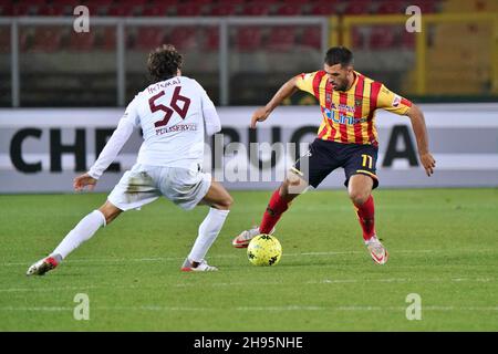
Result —
M 87 33 L 72 28 L 79 4 Z M 408 6 L 422 10 L 421 33 L 405 30 Z M 124 106 L 164 42 L 218 105 L 266 103 L 336 44 L 417 102 L 496 101 L 497 11 L 496 0 L 1 0 L 0 106 Z

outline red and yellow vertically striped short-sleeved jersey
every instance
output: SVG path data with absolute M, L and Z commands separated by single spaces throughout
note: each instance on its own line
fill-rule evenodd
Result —
M 320 102 L 323 121 L 318 137 L 343 144 L 378 145 L 375 110 L 383 108 L 405 115 L 412 102 L 391 92 L 384 84 L 354 72 L 347 91 L 334 91 L 325 71 L 298 75 L 298 88 Z

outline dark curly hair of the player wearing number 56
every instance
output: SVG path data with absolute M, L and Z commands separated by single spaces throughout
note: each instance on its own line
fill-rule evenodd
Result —
M 184 58 L 172 44 L 163 44 L 148 54 L 147 69 L 154 82 L 164 81 L 176 76 L 181 70 Z

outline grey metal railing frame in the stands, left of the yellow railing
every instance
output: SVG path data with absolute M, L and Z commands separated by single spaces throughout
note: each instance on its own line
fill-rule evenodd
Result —
M 15 17 L 15 18 L 0 18 L 0 27 L 10 27 L 10 81 L 11 81 L 11 102 L 13 107 L 19 107 L 22 101 L 21 87 L 23 86 L 21 72 L 22 67 L 20 65 L 20 52 L 22 45 L 20 28 L 21 27 L 61 27 L 66 28 L 73 27 L 75 18 L 73 17 Z M 219 93 L 218 102 L 221 105 L 228 105 L 230 103 L 230 51 L 232 50 L 229 43 L 229 31 L 231 29 L 238 28 L 260 28 L 260 27 L 277 27 L 277 28 L 295 28 L 295 27 L 314 27 L 320 31 L 319 41 L 310 41 L 309 45 L 317 45 L 314 50 L 323 53 L 330 44 L 329 33 L 333 28 L 333 20 L 328 17 L 309 17 L 309 18 L 295 18 L 295 17 L 206 17 L 206 18 L 164 18 L 164 17 L 144 17 L 144 18 L 126 18 L 126 17 L 92 17 L 91 18 L 91 29 L 95 27 L 112 27 L 115 29 L 115 38 L 110 37 L 104 39 L 104 41 L 112 42 L 115 41 L 115 90 L 116 98 L 115 104 L 118 106 L 124 106 L 126 104 L 126 65 L 127 65 L 127 50 L 128 43 L 125 37 L 125 30 L 128 28 L 180 28 L 180 27 L 195 27 L 195 28 L 211 28 L 211 32 L 206 33 L 207 37 L 211 35 L 214 38 L 212 43 L 218 42 L 218 82 L 219 82 Z M 212 28 L 218 29 L 218 33 L 212 34 Z M 216 32 L 216 31 L 215 31 Z M 335 31 L 332 31 L 335 32 Z M 314 32 L 317 33 L 317 32 Z M 216 35 L 217 34 L 217 35 Z M 46 37 L 43 39 L 43 37 Z M 188 35 L 185 34 L 174 34 L 173 37 Z M 283 44 L 280 52 L 284 52 L 286 48 L 292 45 L 291 42 L 286 43 L 284 31 L 276 31 L 273 34 L 276 41 L 280 41 Z M 218 39 L 216 39 L 218 37 Z M 35 33 L 34 41 L 40 42 L 40 48 L 46 55 L 55 55 L 56 44 L 54 41 L 60 41 L 60 38 L 53 37 L 48 33 Z M 83 40 L 77 45 L 87 45 L 92 43 L 92 38 L 87 41 Z M 71 44 L 70 44 L 71 45 Z M 75 44 L 76 45 L 76 44 Z M 139 44 L 137 44 L 139 46 Z M 105 44 L 104 44 L 105 46 Z M 212 44 L 211 44 L 212 46 Z M 37 49 L 37 48 L 35 48 Z M 279 51 L 279 49 L 276 49 Z M 199 55 L 205 55 L 205 53 L 199 52 Z M 194 59 L 195 61 L 196 59 Z M 145 62 L 141 63 L 144 66 Z M 145 66 L 144 66 L 145 67 Z M 97 80 L 97 77 L 95 77 Z

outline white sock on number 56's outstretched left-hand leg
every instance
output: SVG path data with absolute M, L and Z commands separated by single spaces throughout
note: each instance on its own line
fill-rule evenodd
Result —
M 81 243 L 92 238 L 101 226 L 105 226 L 105 217 L 101 211 L 93 210 L 66 235 L 52 254 L 60 254 L 62 259 L 66 258 Z

